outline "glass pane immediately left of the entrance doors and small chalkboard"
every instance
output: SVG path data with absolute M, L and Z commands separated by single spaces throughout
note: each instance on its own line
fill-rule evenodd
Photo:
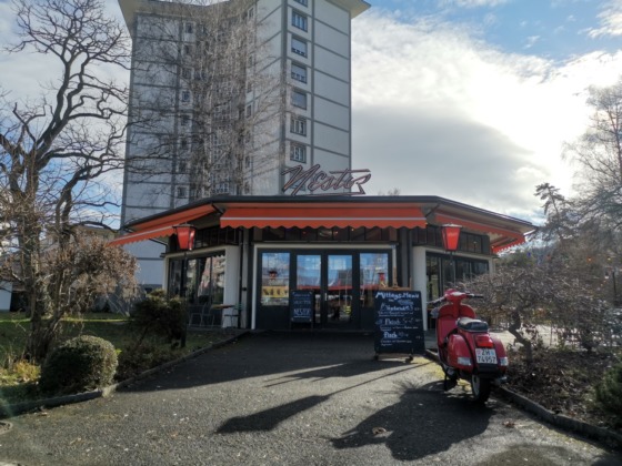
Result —
M 288 306 L 290 297 L 290 253 L 261 253 L 261 304 Z

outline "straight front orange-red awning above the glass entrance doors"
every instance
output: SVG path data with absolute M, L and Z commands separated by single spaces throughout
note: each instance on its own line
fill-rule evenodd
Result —
M 373 205 L 304 205 L 291 204 L 235 206 L 231 205 L 222 214 L 220 226 L 231 227 L 425 227 L 425 216 L 421 209 L 395 204 Z

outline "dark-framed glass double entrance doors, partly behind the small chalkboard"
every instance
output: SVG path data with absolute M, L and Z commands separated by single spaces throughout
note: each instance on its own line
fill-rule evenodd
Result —
M 358 277 L 352 253 L 311 253 L 297 255 L 295 287 L 312 290 L 315 296 L 315 325 L 358 328 Z M 358 293 L 357 293 L 358 294 Z

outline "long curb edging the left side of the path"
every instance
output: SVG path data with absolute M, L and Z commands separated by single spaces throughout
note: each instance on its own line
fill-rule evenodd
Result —
M 122 381 L 122 382 L 119 382 L 119 383 L 113 384 L 113 385 L 109 385 L 109 386 L 100 388 L 100 389 L 96 389 L 96 391 L 92 391 L 92 392 L 86 392 L 86 393 L 79 393 L 79 394 L 76 394 L 76 395 L 57 396 L 57 397 L 52 397 L 52 398 L 36 399 L 33 402 L 17 403 L 17 404 L 13 404 L 13 405 L 0 405 L 0 419 L 10 418 L 10 417 L 23 414 L 23 413 L 36 412 L 36 411 L 40 411 L 40 409 L 43 409 L 43 408 L 52 408 L 52 407 L 57 407 L 57 406 L 69 405 L 69 404 L 72 404 L 72 403 L 81 403 L 81 402 L 87 402 L 89 399 L 94 399 L 94 398 L 109 396 L 119 388 L 126 387 L 126 386 L 131 385 L 131 384 L 133 384 L 133 383 L 136 383 L 136 382 L 138 382 L 142 378 L 149 377 L 150 375 L 157 374 L 161 371 L 164 371 L 164 369 L 167 369 L 169 367 L 172 367 L 177 364 L 180 364 L 184 361 L 197 357 L 197 356 L 199 356 L 203 353 L 207 353 L 208 351 L 228 345 L 228 344 L 239 340 L 240 337 L 242 337 L 242 336 L 244 336 L 249 333 L 250 333 L 250 331 L 241 332 L 238 335 L 234 335 L 230 338 L 223 340 L 222 342 L 218 342 L 218 343 L 214 343 L 210 346 L 205 346 L 204 348 L 197 350 L 195 352 L 187 354 L 185 356 L 182 356 L 182 357 L 179 357 L 174 361 L 170 361 L 168 363 L 161 364 L 158 367 L 153 367 L 153 368 L 150 368 L 148 371 L 144 371 L 144 372 L 138 374 L 134 377 L 128 378 L 127 381 Z

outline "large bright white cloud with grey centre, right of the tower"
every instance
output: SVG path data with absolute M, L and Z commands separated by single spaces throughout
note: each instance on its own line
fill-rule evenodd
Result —
M 585 129 L 586 88 L 622 69 L 622 52 L 560 65 L 373 12 L 352 26 L 353 166 L 372 171 L 372 194 L 398 188 L 531 214 L 536 184 L 571 189 L 562 143 Z

